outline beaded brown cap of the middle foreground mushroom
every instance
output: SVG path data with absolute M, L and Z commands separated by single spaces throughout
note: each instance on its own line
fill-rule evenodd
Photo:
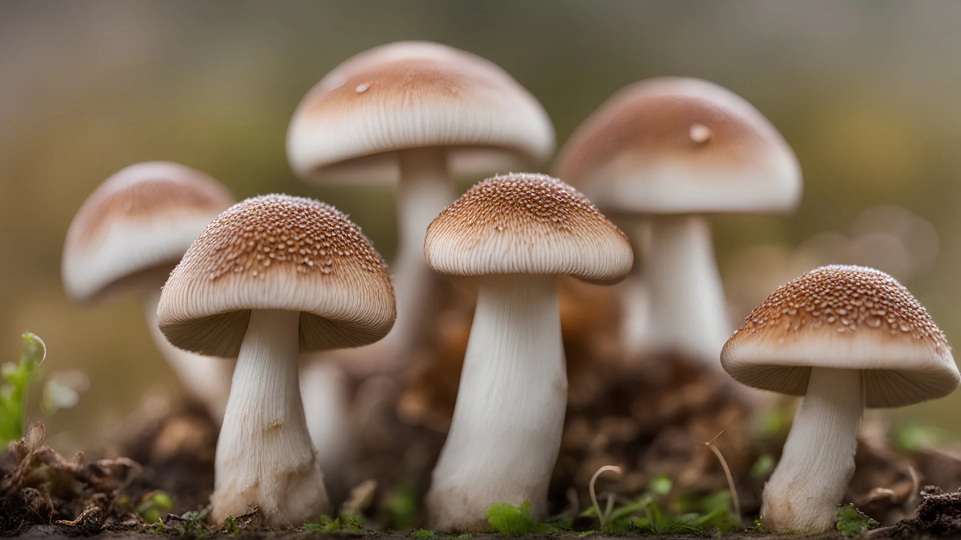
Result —
M 634 261 L 627 236 L 577 189 L 542 174 L 475 185 L 427 229 L 424 257 L 455 276 L 564 274 L 613 283 Z

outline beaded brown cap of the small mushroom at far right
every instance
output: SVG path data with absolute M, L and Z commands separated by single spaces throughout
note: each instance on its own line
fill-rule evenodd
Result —
M 924 307 L 863 266 L 822 266 L 777 287 L 727 340 L 721 365 L 748 386 L 795 396 L 812 367 L 864 370 L 867 406 L 941 398 L 961 380 Z

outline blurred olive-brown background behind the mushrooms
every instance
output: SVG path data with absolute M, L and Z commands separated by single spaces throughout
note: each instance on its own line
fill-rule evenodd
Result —
M 660 75 L 727 86 L 766 114 L 804 174 L 791 216 L 717 216 L 732 317 L 818 264 L 898 277 L 961 343 L 961 3 L 665 0 L 0 3 L 0 358 L 21 331 L 47 373 L 84 372 L 55 446 L 92 444 L 176 392 L 136 298 L 71 305 L 62 242 L 94 187 L 141 160 L 208 172 L 237 198 L 283 191 L 350 213 L 388 260 L 391 189 L 300 184 L 283 149 L 298 101 L 338 62 L 431 39 L 502 65 L 563 142 L 615 90 Z M 736 319 L 735 319 L 736 320 Z M 961 394 L 888 413 L 961 435 Z M 36 411 L 35 411 L 36 413 Z

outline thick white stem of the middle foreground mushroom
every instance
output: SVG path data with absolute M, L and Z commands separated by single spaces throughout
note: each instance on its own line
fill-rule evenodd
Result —
M 547 512 L 567 374 L 554 276 L 480 279 L 447 442 L 427 495 L 434 530 L 482 531 L 493 503 Z

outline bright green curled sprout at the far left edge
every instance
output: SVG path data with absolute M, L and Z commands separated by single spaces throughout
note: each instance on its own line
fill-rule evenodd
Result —
M 23 436 L 27 387 L 37 379 L 40 362 L 47 355 L 43 340 L 25 331 L 20 361 L 7 362 L 0 368 L 0 446 Z

